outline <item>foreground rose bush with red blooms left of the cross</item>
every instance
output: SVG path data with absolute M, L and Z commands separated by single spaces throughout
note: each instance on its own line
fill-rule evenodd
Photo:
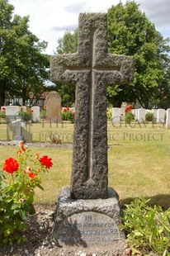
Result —
M 26 241 L 26 218 L 35 214 L 33 206 L 35 187 L 43 190 L 40 173 L 48 172 L 52 159 L 47 155 L 31 155 L 23 143 L 17 150 L 17 159 L 8 158 L 0 171 L 0 243 Z

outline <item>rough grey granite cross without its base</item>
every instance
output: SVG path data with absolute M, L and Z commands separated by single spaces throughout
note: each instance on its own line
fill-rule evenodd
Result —
M 107 53 L 104 13 L 81 13 L 78 52 L 51 59 L 51 80 L 76 85 L 72 198 L 107 197 L 106 85 L 129 83 L 133 59 Z

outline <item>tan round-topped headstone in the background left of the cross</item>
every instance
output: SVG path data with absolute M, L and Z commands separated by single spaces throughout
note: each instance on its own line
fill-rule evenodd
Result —
M 47 119 L 56 121 L 61 118 L 61 97 L 58 92 L 52 91 L 46 97 Z

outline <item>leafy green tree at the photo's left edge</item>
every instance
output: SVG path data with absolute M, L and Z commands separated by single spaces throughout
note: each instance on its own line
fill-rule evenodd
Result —
M 14 7 L 0 0 L 0 105 L 6 94 L 21 97 L 23 105 L 33 92 L 37 97 L 43 91 L 43 82 L 49 77 L 50 65 L 45 50 L 47 43 L 29 31 L 29 17 L 13 15 Z

